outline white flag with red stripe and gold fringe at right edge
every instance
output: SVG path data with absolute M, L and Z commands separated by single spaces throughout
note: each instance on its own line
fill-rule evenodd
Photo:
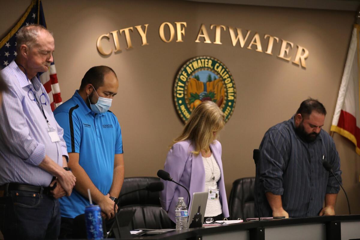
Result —
M 360 26 L 354 24 L 331 131 L 352 141 L 360 155 Z

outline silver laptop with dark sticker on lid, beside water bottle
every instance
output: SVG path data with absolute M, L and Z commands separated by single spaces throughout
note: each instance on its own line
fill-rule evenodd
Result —
M 188 228 L 202 227 L 205 209 L 207 204 L 208 192 L 194 193 L 191 201 Z

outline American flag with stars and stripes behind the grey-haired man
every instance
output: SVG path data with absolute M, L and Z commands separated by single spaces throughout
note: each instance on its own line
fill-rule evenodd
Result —
M 33 0 L 31 5 L 27 8 L 25 14 L 20 21 L 15 24 L 13 29 L 0 42 L 0 69 L 5 68 L 15 59 L 16 53 L 16 35 L 17 31 L 29 24 L 36 23 L 46 27 L 45 16 L 42 10 L 40 0 Z M 58 78 L 56 76 L 56 69 L 54 62 L 51 63 L 48 72 L 39 73 L 40 82 L 44 85 L 46 92 L 48 92 L 51 109 L 54 111 L 56 107 L 62 104 L 60 96 L 60 87 Z

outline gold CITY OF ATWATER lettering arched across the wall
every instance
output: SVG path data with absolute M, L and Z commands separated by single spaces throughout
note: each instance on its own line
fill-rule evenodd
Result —
M 124 33 L 124 35 L 125 35 L 125 40 L 126 40 L 126 45 L 127 45 L 126 49 L 133 48 L 130 32 L 133 32 L 134 28 L 138 31 L 138 33 L 141 37 L 141 42 L 142 42 L 141 46 L 149 45 L 149 43 L 147 41 L 148 26 L 149 26 L 149 24 L 144 24 L 143 26 L 138 25 L 135 27 L 127 27 L 127 28 L 111 31 L 109 33 L 100 35 L 96 41 L 96 47 L 98 49 L 98 52 L 101 55 L 108 56 L 108 55 L 111 55 L 112 52 L 117 53 L 117 52 L 121 51 L 119 37 L 121 37 L 122 33 Z M 175 39 L 175 31 L 176 31 L 176 42 L 184 42 L 186 27 L 187 27 L 186 22 L 174 22 L 174 24 L 170 23 L 170 22 L 163 22 L 159 26 L 160 39 L 166 43 L 172 42 Z M 278 37 L 269 35 L 269 34 L 264 34 L 264 37 L 262 38 L 262 35 L 260 35 L 257 32 L 253 33 L 252 38 L 251 38 L 250 37 L 251 30 L 242 30 L 241 28 L 237 28 L 237 27 L 234 28 L 231 26 L 226 27 L 226 26 L 220 25 L 220 24 L 210 24 L 210 31 L 211 30 L 215 31 L 215 39 L 213 39 L 214 41 L 211 41 L 206 25 L 201 24 L 200 29 L 197 34 L 197 37 L 195 39 L 195 42 L 196 43 L 210 43 L 210 44 L 211 43 L 212 44 L 224 44 L 225 42 L 221 41 L 221 32 L 222 31 L 226 32 L 226 30 L 229 30 L 231 44 L 234 47 L 237 47 L 240 45 L 241 48 L 246 47 L 246 49 L 249 49 L 249 50 L 255 50 L 260 53 L 273 55 L 274 45 L 281 44 L 279 54 L 276 55 L 277 58 L 286 60 L 288 62 L 290 62 L 293 59 L 292 63 L 294 63 L 298 66 L 301 66 L 302 68 L 306 68 L 305 61 L 309 57 L 309 50 L 307 50 L 303 46 L 296 45 L 296 47 L 297 47 L 296 54 L 295 54 L 295 56 L 292 56 L 290 53 L 290 50 L 293 49 L 294 43 L 291 41 L 281 39 L 281 42 L 280 42 Z M 246 34 L 245 34 L 245 31 L 246 31 Z M 169 35 L 165 36 L 165 32 L 169 32 L 170 36 Z M 112 36 L 113 45 L 111 45 L 110 33 Z M 245 35 L 245 37 L 244 37 L 244 35 Z M 104 39 L 106 39 L 107 41 L 104 41 Z M 262 49 L 262 46 L 264 46 L 264 45 L 262 45 L 261 41 L 264 41 L 264 39 L 265 39 L 265 41 L 267 40 L 266 51 L 263 51 L 263 49 Z M 239 43 L 239 45 L 238 45 L 238 43 Z M 110 44 L 111 50 L 105 52 L 102 44 L 107 44 L 108 45 L 107 48 L 109 48 L 109 44 Z M 264 50 L 265 50 L 265 48 L 264 48 Z

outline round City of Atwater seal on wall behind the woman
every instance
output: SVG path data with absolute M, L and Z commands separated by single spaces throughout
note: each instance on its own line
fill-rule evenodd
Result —
M 203 101 L 213 101 L 225 114 L 225 122 L 234 112 L 236 89 L 229 69 L 210 56 L 198 56 L 181 67 L 175 78 L 174 101 L 184 123 Z

